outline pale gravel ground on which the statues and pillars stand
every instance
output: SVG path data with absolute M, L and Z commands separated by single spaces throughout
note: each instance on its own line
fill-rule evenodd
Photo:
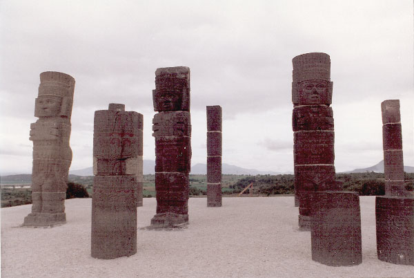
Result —
M 224 197 L 223 207 L 190 198 L 184 230 L 142 230 L 155 198 L 138 207 L 137 254 L 90 257 L 91 199 L 66 201 L 65 225 L 20 227 L 31 205 L 1 209 L 1 277 L 414 277 L 413 266 L 377 259 L 375 196 L 360 197 L 362 264 L 311 259 L 311 234 L 297 229 L 292 196 Z

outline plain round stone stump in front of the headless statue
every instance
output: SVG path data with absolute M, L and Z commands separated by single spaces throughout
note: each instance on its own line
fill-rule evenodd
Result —
M 137 252 L 136 183 L 133 175 L 94 177 L 92 257 L 115 259 Z

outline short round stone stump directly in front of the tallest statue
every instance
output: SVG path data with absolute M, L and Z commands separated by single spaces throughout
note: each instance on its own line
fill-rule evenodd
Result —
M 312 259 L 327 266 L 362 263 L 361 214 L 356 192 L 314 192 Z

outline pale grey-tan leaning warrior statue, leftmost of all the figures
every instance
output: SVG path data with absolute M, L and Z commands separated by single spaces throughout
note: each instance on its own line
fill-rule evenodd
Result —
M 72 162 L 69 146 L 75 79 L 65 73 L 40 74 L 39 96 L 30 124 L 33 141 L 32 212 L 23 225 L 66 223 L 65 199 Z

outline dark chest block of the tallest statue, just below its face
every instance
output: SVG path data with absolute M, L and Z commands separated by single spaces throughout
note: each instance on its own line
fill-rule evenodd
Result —
M 293 131 L 333 131 L 333 111 L 326 105 L 306 105 L 293 108 Z

